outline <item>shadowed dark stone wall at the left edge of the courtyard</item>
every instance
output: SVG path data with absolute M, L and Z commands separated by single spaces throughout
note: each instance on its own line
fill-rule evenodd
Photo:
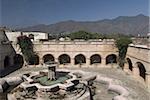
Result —
M 8 40 L 5 31 L 0 30 L 0 76 L 13 70 L 15 55 L 11 41 Z

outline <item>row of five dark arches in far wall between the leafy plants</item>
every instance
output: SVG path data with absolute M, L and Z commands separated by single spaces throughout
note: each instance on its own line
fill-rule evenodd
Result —
M 43 63 L 46 62 L 55 62 L 58 61 L 59 64 L 70 64 L 72 63 L 73 65 L 80 65 L 80 64 L 86 64 L 87 63 L 87 58 L 83 54 L 77 54 L 73 60 L 71 60 L 71 56 L 68 54 L 61 54 L 58 59 L 56 59 L 52 54 L 45 54 L 42 58 Z M 99 54 L 93 54 L 89 58 L 90 62 L 89 65 L 94 65 L 94 64 L 101 64 L 102 63 L 102 58 Z M 112 63 L 117 63 L 117 56 L 115 54 L 110 54 L 106 56 L 106 64 L 112 64 Z

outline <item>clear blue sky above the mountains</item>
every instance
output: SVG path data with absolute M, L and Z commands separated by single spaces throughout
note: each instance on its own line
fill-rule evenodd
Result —
M 0 0 L 0 25 L 25 27 L 60 21 L 149 16 L 149 0 Z

